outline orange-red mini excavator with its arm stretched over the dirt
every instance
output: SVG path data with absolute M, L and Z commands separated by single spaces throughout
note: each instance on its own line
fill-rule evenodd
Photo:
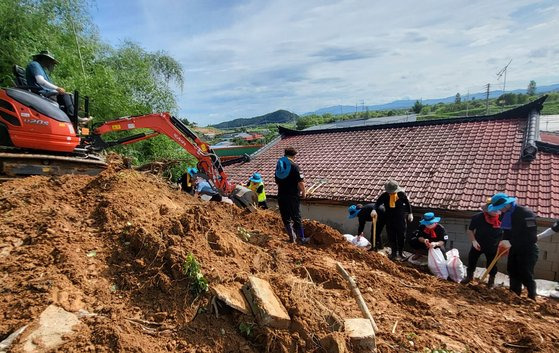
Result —
M 232 184 L 223 169 L 247 162 L 248 155 L 222 163 L 206 142 L 169 113 L 117 118 L 93 126 L 90 132 L 78 124 L 79 92 L 74 92 L 74 116 L 69 117 L 55 101 L 32 92 L 17 68 L 14 66 L 17 86 L 0 88 L 0 180 L 29 175 L 96 175 L 106 167 L 100 151 L 163 134 L 198 160 L 200 174 L 220 193 L 242 206 L 255 199 L 240 185 Z M 89 117 L 88 97 L 83 101 L 84 114 Z M 111 141 L 102 138 L 110 132 L 135 129 L 144 132 Z M 244 201 L 239 200 L 240 195 Z

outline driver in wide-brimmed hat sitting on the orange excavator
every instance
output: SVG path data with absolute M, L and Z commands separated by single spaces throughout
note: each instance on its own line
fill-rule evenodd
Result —
M 58 60 L 56 60 L 48 50 L 43 50 L 33 55 L 33 61 L 25 68 L 25 79 L 27 85 L 34 93 L 45 97 L 56 96 L 60 109 L 72 119 L 74 117 L 74 102 L 72 97 L 66 93 L 64 88 L 55 85 L 49 77 L 49 73 L 54 70 L 57 64 Z M 88 121 L 88 118 L 80 118 L 79 120 L 82 124 Z

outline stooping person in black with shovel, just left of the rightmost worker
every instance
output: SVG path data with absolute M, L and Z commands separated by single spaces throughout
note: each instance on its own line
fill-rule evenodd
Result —
M 499 241 L 503 235 L 501 230 L 501 221 L 499 215 L 501 212 L 489 212 L 487 210 L 488 204 L 483 205 L 481 208 L 483 212 L 476 213 L 468 227 L 468 238 L 472 243 L 470 253 L 468 254 L 468 269 L 466 278 L 462 283 L 470 283 L 474 278 L 474 272 L 477 266 L 477 260 L 481 254 L 485 254 L 486 267 L 493 261 L 497 255 L 497 248 Z M 495 275 L 497 274 L 497 266 L 493 266 L 489 272 L 489 280 L 487 281 L 488 287 L 495 285 Z

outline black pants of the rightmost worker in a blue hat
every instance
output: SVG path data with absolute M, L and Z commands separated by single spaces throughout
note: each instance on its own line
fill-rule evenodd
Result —
M 536 298 L 536 281 L 534 280 L 534 266 L 538 261 L 540 251 L 536 244 L 522 247 L 511 247 L 507 263 L 510 279 L 510 290 L 518 295 L 522 293 L 522 285 L 528 290 L 528 297 Z

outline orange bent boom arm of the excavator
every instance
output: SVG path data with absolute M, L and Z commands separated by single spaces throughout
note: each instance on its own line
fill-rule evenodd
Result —
M 113 141 L 105 141 L 101 138 L 102 135 L 109 132 L 134 129 L 150 129 L 152 131 L 126 136 Z M 223 170 L 223 164 L 210 146 L 200 140 L 192 130 L 169 113 L 154 113 L 107 121 L 101 126 L 94 128 L 93 133 L 85 140 L 85 147 L 92 151 L 101 151 L 112 146 L 127 145 L 146 140 L 160 134 L 171 138 L 193 155 L 198 160 L 198 170 L 205 173 L 219 190 L 226 194 L 230 194 L 234 190 L 235 185 L 228 181 L 227 174 Z M 248 156 L 228 161 L 229 163 L 227 164 L 240 161 L 248 161 Z

